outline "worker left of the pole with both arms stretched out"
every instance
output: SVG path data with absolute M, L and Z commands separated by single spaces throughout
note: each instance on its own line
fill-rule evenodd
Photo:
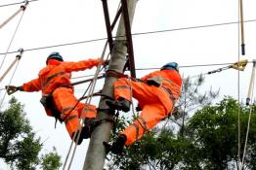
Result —
M 85 119 L 85 124 L 92 124 L 97 110 L 94 105 L 80 103 L 73 93 L 70 78 L 72 71 L 91 69 L 103 62 L 102 59 L 88 59 L 78 62 L 64 62 L 59 52 L 52 52 L 46 60 L 46 67 L 41 69 L 38 78 L 21 86 L 10 85 L 10 90 L 27 92 L 42 90 L 40 102 L 48 116 L 64 121 L 71 139 L 76 130 L 81 130 L 78 145 L 91 135 L 91 126 L 80 126 L 79 118 Z M 78 135 L 76 135 L 78 136 Z M 76 137 L 75 137 L 76 139 Z

